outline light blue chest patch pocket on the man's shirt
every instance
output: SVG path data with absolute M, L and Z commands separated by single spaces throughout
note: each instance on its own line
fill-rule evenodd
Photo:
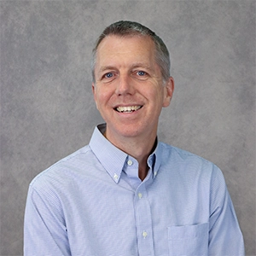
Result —
M 207 256 L 209 224 L 168 227 L 169 256 Z

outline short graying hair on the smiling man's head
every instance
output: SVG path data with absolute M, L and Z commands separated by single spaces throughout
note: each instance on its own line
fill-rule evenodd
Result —
M 163 79 L 166 81 L 170 77 L 171 61 L 169 51 L 166 47 L 166 44 L 163 40 L 157 36 L 152 30 L 148 27 L 143 26 L 142 24 L 135 21 L 120 20 L 114 22 L 110 26 L 106 27 L 100 37 L 96 40 L 94 49 L 92 50 L 92 59 L 91 59 L 91 72 L 92 79 L 95 82 L 95 66 L 96 66 L 96 53 L 99 44 L 102 40 L 109 35 L 115 35 L 119 37 L 125 36 L 144 36 L 149 37 L 153 40 L 154 46 L 156 49 L 155 61 L 159 65 Z

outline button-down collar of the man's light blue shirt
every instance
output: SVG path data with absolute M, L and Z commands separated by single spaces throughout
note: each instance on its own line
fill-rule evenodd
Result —
M 97 125 L 90 138 L 89 146 L 97 159 L 101 162 L 102 166 L 113 178 L 113 181 L 119 183 L 121 172 L 129 155 L 110 143 L 108 139 L 103 136 L 105 131 L 106 124 Z M 148 156 L 148 166 L 153 170 L 153 177 L 156 177 L 158 173 L 161 160 L 160 143 L 156 143 L 157 145 L 154 152 Z

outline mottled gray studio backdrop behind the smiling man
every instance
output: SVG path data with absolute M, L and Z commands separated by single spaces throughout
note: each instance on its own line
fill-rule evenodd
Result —
M 22 255 L 32 177 L 102 122 L 90 51 L 105 26 L 137 20 L 164 39 L 176 81 L 160 140 L 224 172 L 256 255 L 255 0 L 0 0 L 0 255 Z

